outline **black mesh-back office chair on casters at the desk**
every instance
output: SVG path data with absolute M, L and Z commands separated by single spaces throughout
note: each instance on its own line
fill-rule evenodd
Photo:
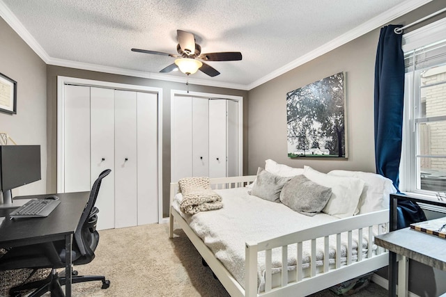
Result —
M 109 175 L 112 170 L 104 170 L 96 179 L 91 188 L 90 198 L 84 212 L 77 225 L 74 240 L 72 243 L 72 264 L 82 265 L 91 262 L 94 251 L 98 246 L 99 233 L 96 231 L 98 221 L 98 208 L 94 207 L 102 179 Z M 59 275 L 56 268 L 64 268 L 66 258 L 65 241 L 54 241 L 52 243 L 39 243 L 33 246 L 24 246 L 10 249 L 1 258 L 0 270 L 10 270 L 18 268 L 52 268 L 52 273 L 45 280 L 29 282 L 22 286 L 10 289 L 10 296 L 20 296 L 20 291 L 36 289 L 29 296 L 42 296 L 50 291 L 51 296 L 65 296 L 61 285 L 64 285 L 66 278 Z M 77 271 L 72 273 L 72 284 L 77 282 L 90 282 L 93 280 L 102 281 L 102 289 L 110 286 L 110 281 L 105 280 L 102 275 L 77 275 Z

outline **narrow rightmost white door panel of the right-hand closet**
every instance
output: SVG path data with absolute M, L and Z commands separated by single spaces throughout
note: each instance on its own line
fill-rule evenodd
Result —
M 227 147 L 228 147 L 228 173 L 229 177 L 242 175 L 238 172 L 238 102 L 226 100 L 227 104 Z

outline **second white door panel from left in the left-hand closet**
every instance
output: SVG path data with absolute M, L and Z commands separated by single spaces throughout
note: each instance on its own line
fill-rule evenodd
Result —
M 91 87 L 91 185 L 100 172 L 112 169 L 102 180 L 95 206 L 98 230 L 114 228 L 114 90 Z

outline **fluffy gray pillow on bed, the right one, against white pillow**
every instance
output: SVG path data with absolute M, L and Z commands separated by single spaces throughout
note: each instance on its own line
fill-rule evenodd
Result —
M 297 175 L 284 185 L 279 198 L 283 204 L 306 216 L 321 212 L 332 195 L 332 189 L 316 184 L 305 175 Z

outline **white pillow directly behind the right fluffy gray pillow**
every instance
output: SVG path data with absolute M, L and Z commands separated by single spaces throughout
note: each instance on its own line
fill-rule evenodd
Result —
M 347 218 L 357 214 L 357 204 L 364 189 L 364 181 L 355 177 L 328 175 L 309 166 L 304 167 L 304 175 L 316 184 L 332 188 L 330 200 L 322 209 L 325 214 L 337 218 Z

